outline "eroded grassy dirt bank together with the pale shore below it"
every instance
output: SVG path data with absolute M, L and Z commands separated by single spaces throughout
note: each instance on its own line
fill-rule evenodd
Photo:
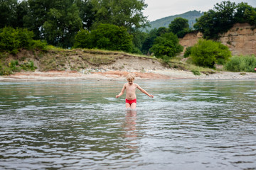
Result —
M 155 58 L 98 50 L 63 50 L 45 54 L 25 50 L 6 59 L 7 62 L 10 60 L 32 60 L 38 69 L 36 72 L 17 72 L 10 76 L 1 76 L 0 81 L 125 79 L 129 72 L 134 72 L 136 79 L 256 79 L 256 73 L 240 72 L 201 73 L 196 76 L 192 72 L 166 67 Z

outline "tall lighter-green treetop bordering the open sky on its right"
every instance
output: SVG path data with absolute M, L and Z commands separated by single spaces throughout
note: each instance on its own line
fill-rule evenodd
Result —
M 127 28 L 132 33 L 137 28 L 148 26 L 149 21 L 142 11 L 146 4 L 142 0 L 92 0 L 95 24 L 110 23 Z

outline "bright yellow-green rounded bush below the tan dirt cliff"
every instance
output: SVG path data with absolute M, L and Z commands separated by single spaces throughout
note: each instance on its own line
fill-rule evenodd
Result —
M 224 64 L 230 57 L 231 52 L 228 47 L 213 40 L 198 40 L 191 49 L 193 62 L 202 67 Z

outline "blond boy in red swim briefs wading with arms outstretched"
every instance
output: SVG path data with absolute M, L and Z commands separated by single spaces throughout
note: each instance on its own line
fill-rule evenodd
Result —
M 128 83 L 124 84 L 122 91 L 120 94 L 116 96 L 116 98 L 119 98 L 124 94 L 124 90 L 126 89 L 126 97 L 125 97 L 125 107 L 126 108 L 136 108 L 137 104 L 137 98 L 135 94 L 135 90 L 138 88 L 142 93 L 146 94 L 147 96 L 154 98 L 153 95 L 148 94 L 144 89 L 142 89 L 138 84 L 134 83 L 135 75 L 132 73 L 129 73 L 127 75 L 127 81 Z

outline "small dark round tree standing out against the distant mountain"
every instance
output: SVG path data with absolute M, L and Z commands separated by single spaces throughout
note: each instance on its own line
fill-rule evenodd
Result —
M 189 30 L 188 20 L 181 17 L 175 18 L 169 24 L 169 30 L 178 35 L 178 38 L 183 38 Z

